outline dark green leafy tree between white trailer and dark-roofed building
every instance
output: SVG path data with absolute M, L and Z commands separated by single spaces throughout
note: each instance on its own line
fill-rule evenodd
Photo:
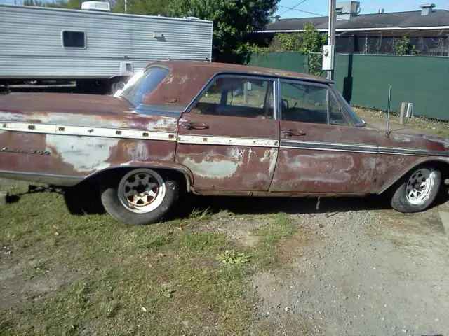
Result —
M 213 60 L 243 63 L 250 55 L 248 34 L 264 29 L 280 0 L 172 0 L 168 15 L 212 20 Z

